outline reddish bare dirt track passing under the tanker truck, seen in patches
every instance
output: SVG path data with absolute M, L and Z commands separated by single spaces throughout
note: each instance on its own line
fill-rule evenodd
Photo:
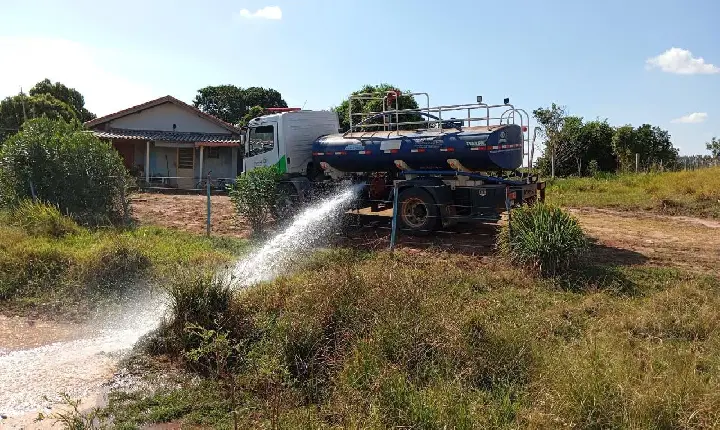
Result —
M 134 216 L 141 224 L 203 233 L 206 198 L 197 195 L 139 194 L 134 197 Z M 604 260 L 623 264 L 674 266 L 717 273 L 720 267 L 720 222 L 690 217 L 671 217 L 647 212 L 603 209 L 570 209 L 588 235 L 596 240 Z M 238 221 L 227 196 L 212 197 L 214 234 L 247 237 L 247 225 Z M 492 253 L 496 227 L 459 227 L 433 237 L 400 236 L 405 248 L 442 249 L 474 255 Z M 341 239 L 346 245 L 383 249 L 389 243 L 389 226 L 380 223 Z

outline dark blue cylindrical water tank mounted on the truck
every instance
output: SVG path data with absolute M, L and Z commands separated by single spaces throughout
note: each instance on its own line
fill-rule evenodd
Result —
M 449 170 L 449 159 L 474 171 L 515 170 L 523 163 L 519 125 L 365 131 L 322 136 L 312 147 L 316 165 L 341 172 L 385 172 L 395 160 L 415 170 Z

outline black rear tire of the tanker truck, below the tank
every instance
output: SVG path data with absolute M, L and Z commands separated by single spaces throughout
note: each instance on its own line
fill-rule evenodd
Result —
M 426 236 L 440 224 L 440 211 L 435 200 L 425 190 L 407 188 L 398 196 L 398 224 L 400 231 Z

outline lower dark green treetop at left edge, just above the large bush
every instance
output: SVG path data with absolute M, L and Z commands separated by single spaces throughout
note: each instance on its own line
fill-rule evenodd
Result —
M 0 102 L 0 145 L 20 130 L 26 119 L 47 117 L 71 122 L 77 120 L 75 110 L 49 94 L 19 94 Z

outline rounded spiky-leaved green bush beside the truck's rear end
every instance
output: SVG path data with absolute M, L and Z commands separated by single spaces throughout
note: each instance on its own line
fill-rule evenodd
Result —
M 500 252 L 513 263 L 556 275 L 570 268 L 588 246 L 577 220 L 544 203 L 513 209 L 498 236 Z

